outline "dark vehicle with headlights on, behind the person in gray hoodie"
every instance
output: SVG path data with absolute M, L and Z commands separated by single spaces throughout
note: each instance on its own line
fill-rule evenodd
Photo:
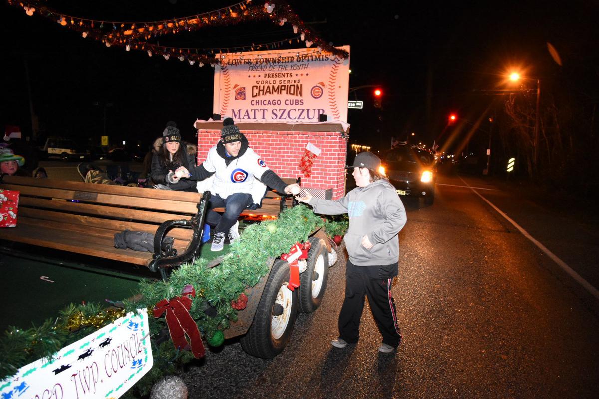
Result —
M 409 144 L 398 145 L 382 154 L 381 166 L 400 196 L 423 197 L 432 205 L 437 179 L 432 153 Z

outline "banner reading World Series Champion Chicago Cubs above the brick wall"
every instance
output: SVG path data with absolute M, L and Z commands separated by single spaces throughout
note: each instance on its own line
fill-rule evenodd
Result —
M 340 47 L 349 53 L 349 46 Z M 317 49 L 220 54 L 214 114 L 235 122 L 347 123 L 349 58 Z

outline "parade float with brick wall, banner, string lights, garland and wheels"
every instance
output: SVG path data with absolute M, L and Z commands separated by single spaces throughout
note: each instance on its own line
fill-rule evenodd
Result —
M 11 4 L 28 14 L 56 17 L 60 25 L 75 20 L 37 2 Z M 214 23 L 237 23 L 237 17 L 287 23 L 306 48 L 274 50 L 267 45 L 262 51 L 177 54 L 176 48 L 146 42 L 157 32 L 199 29 L 213 21 L 213 13 L 108 32 L 92 20 L 63 26 L 107 47 L 141 47 L 150 56 L 213 65 L 213 117 L 194 124 L 198 162 L 217 142 L 220 119 L 232 117 L 250 146 L 282 178 L 300 177 L 302 188 L 314 196 L 340 198 L 349 135 L 349 47 L 326 44 L 283 2 L 264 7 L 242 2 L 223 10 L 226 17 Z M 194 234 L 201 236 L 205 207 L 198 209 Z M 313 312 L 322 303 L 328 268 L 337 258 L 330 237 L 338 242 L 347 224 L 317 217 L 304 205 L 289 207 L 276 218 L 262 218 L 259 210 L 255 214 L 258 223 L 250 223 L 217 260 L 205 260 L 199 248 L 188 261 L 169 264 L 168 280 L 143 281 L 138 295 L 112 301 L 113 306 L 71 304 L 38 327 L 10 327 L 0 340 L 2 395 L 147 395 L 160 377 L 202 358 L 205 344 L 218 347 L 236 336 L 249 354 L 279 354 L 298 310 Z M 165 228 L 161 240 L 167 236 Z

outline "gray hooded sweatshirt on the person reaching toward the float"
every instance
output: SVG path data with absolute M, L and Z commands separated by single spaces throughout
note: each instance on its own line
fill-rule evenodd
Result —
M 312 198 L 314 213 L 349 215 L 349 230 L 343 237 L 349 260 L 356 266 L 382 266 L 397 263 L 400 242 L 397 234 L 406 224 L 406 209 L 395 187 L 386 179 L 356 187 L 341 199 L 331 201 Z M 374 244 L 362 246 L 362 237 Z

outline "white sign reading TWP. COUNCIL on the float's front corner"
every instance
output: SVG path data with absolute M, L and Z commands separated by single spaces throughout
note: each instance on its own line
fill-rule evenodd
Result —
M 147 309 L 138 309 L 0 382 L 2 398 L 118 398 L 150 368 Z

